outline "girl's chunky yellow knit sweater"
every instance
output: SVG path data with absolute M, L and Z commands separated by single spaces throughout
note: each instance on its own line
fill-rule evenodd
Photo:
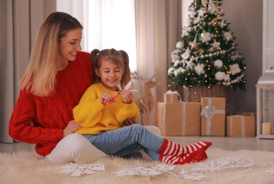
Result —
M 126 104 L 122 102 L 122 96 L 118 95 L 116 103 L 100 102 L 101 93 L 108 92 L 112 96 L 118 93 L 110 91 L 103 84 L 89 86 L 82 96 L 79 105 L 73 109 L 74 120 L 81 125 L 79 134 L 100 134 L 108 130 L 123 127 L 122 122 L 128 118 L 139 117 L 139 109 L 135 103 Z

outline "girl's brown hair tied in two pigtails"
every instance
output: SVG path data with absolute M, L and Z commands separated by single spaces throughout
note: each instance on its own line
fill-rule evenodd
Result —
M 91 62 L 93 64 L 93 69 L 99 69 L 101 67 L 101 61 L 103 59 L 107 59 L 108 61 L 115 62 L 124 71 L 122 74 L 122 79 L 120 81 L 121 88 L 124 88 L 125 85 L 131 80 L 130 73 L 130 59 L 128 57 L 127 52 L 123 50 L 115 50 L 115 49 L 107 49 L 107 50 L 93 50 L 91 51 Z M 96 75 L 96 72 L 93 72 L 93 84 L 96 84 L 101 81 L 100 77 Z

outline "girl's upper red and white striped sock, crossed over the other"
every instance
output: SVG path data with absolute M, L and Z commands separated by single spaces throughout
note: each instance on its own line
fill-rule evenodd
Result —
M 182 146 L 181 144 L 176 144 L 168 139 L 164 139 L 164 143 L 157 153 L 162 155 L 184 156 L 185 154 L 197 151 L 198 149 L 204 149 L 206 151 L 211 145 L 212 142 L 196 142 L 195 144 Z

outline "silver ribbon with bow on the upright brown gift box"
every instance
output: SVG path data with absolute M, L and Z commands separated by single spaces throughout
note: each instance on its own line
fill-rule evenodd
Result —
M 208 98 L 207 105 L 202 109 L 201 115 L 207 118 L 207 135 L 210 135 L 211 119 L 215 114 L 224 114 L 225 110 L 216 110 L 215 106 L 212 106 L 212 98 Z

